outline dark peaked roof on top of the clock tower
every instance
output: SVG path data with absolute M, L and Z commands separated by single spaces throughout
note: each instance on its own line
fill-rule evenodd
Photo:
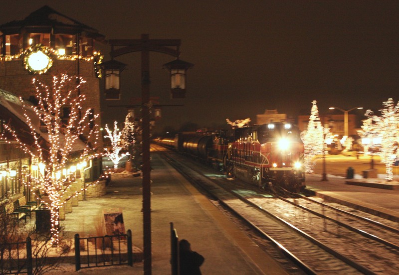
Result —
M 3 34 L 22 32 L 81 34 L 97 41 L 105 39 L 97 29 L 63 15 L 47 5 L 33 11 L 22 20 L 13 20 L 0 25 L 0 31 Z

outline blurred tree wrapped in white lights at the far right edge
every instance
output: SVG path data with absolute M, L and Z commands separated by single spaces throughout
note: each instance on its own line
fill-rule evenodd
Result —
M 385 179 L 392 181 L 394 178 L 393 166 L 399 158 L 399 102 L 395 106 L 393 99 L 390 98 L 383 105 L 384 109 L 380 110 L 381 116 L 367 110 L 366 117 L 368 119 L 362 127 L 362 136 L 368 134 L 365 131 L 367 130 L 381 138 L 380 151 L 377 154 L 380 155 L 381 162 L 385 163 Z

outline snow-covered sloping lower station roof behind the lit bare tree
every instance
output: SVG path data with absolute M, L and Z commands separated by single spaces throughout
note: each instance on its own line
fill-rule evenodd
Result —
M 36 115 L 33 108 L 31 108 L 30 102 L 25 102 L 25 108 L 22 107 L 22 103 L 19 98 L 8 91 L 4 91 L 0 89 L 0 105 L 7 109 L 10 113 L 12 113 L 15 117 L 17 117 L 22 123 L 26 124 L 26 119 L 24 116 L 24 112 L 28 115 L 32 122 L 32 127 L 35 133 L 39 134 L 44 140 L 48 141 L 48 134 L 40 131 L 40 118 Z M 12 121 L 11 121 L 12 125 Z M 60 137 L 60 142 L 63 144 L 63 136 Z M 80 151 L 86 147 L 86 144 L 80 140 L 76 139 L 75 144 L 72 146 L 72 151 Z

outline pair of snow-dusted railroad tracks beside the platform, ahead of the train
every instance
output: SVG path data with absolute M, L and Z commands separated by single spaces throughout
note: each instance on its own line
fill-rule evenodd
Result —
M 332 208 L 327 205 L 323 206 L 307 198 L 282 200 L 268 196 L 248 188 L 239 181 L 234 180 L 232 183 L 213 170 L 207 171 L 205 174 L 208 176 L 204 176 L 203 167 L 196 162 L 190 162 L 188 167 L 188 160 L 181 158 L 182 156 L 174 154 L 169 161 L 195 185 L 209 192 L 213 198 L 234 211 L 264 238 L 273 242 L 276 247 L 280 247 L 283 253 L 305 273 L 396 274 L 398 272 L 396 263 L 398 249 L 393 242 L 397 236 L 395 234 L 398 234 L 395 230 L 387 229 L 389 233 L 384 233 L 385 239 L 377 237 L 383 241 L 371 237 L 374 236 L 371 233 L 368 233 L 371 236 L 364 236 L 364 232 L 367 231 L 348 228 L 349 222 L 343 218 L 343 212 L 332 214 L 337 212 L 330 212 Z M 213 175 L 209 176 L 210 174 Z M 317 206 L 309 207 L 310 204 Z M 315 207 L 319 208 L 319 213 Z M 334 221 L 330 217 L 334 215 L 338 220 Z M 356 227 L 353 226 L 353 221 L 351 223 L 353 228 L 358 227 L 357 222 Z M 368 222 L 368 226 L 378 223 Z M 387 237 L 388 235 L 391 237 Z M 391 239 L 386 240 L 388 238 Z

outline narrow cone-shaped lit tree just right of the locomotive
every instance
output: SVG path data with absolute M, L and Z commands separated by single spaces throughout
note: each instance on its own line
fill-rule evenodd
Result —
M 305 146 L 305 172 L 313 173 L 316 165 L 316 155 L 322 154 L 324 149 L 324 129 L 319 118 L 317 101 L 312 102 L 309 123 L 307 130 L 301 133 L 301 138 Z

